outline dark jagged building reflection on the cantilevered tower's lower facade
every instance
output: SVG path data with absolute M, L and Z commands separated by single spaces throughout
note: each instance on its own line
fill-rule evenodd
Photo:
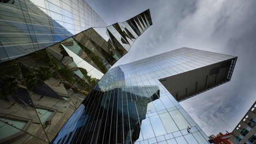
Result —
M 157 86 L 94 89 L 53 143 L 131 143 L 130 137 L 139 137 L 147 104 L 158 95 Z

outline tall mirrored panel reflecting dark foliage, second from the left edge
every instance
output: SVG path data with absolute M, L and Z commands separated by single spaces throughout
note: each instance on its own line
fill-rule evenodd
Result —
M 51 141 L 75 110 L 62 98 L 62 95 L 68 97 L 62 84 L 65 81 L 57 75 L 45 50 L 21 57 L 18 62 L 40 122 Z

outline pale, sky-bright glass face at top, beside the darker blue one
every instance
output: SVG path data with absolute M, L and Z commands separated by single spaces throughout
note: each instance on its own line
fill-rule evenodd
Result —
M 107 24 L 84 0 L 31 0 L 39 9 L 72 34 Z

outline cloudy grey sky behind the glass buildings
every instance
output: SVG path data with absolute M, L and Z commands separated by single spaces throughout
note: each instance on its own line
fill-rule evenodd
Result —
M 256 100 L 256 1 L 87 0 L 108 25 L 150 9 L 153 26 L 114 66 L 191 47 L 238 56 L 230 82 L 181 105 L 207 135 L 232 131 Z

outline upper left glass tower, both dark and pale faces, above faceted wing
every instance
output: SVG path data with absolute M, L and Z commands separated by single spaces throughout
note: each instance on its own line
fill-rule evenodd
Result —
M 0 62 L 100 26 L 106 23 L 85 1 L 0 1 Z

